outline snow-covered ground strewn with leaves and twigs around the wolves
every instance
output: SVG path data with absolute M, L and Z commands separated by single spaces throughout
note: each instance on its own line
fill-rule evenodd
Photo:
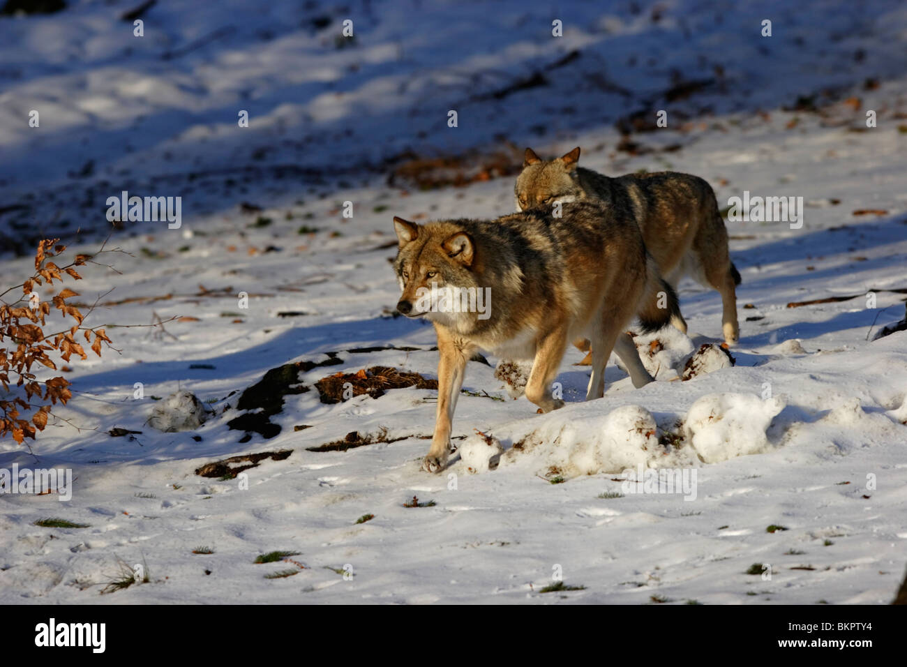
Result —
M 907 564 L 907 331 L 873 336 L 902 319 L 892 290 L 907 289 L 907 5 L 159 3 L 141 38 L 118 18 L 132 4 L 71 5 L 0 18 L 0 285 L 30 273 L 35 238 L 96 250 L 109 196 L 181 196 L 179 229 L 125 223 L 107 247 L 130 254 L 102 260 L 118 272 L 92 265 L 72 287 L 117 302 L 86 325 L 183 319 L 109 328 L 122 352 L 73 359 L 73 400 L 34 454 L 0 443 L 0 468 L 75 477 L 68 502 L 0 495 L 0 602 L 892 599 Z M 654 126 L 659 109 L 668 127 L 619 150 L 615 123 L 641 112 Z M 610 364 L 605 397 L 582 403 L 588 369 L 571 348 L 568 404 L 541 416 L 507 396 L 496 358 L 471 362 L 453 421 L 462 458 L 428 475 L 433 390 L 325 404 L 314 385 L 374 366 L 435 377 L 433 329 L 390 314 L 391 217 L 495 217 L 512 210 L 513 176 L 427 191 L 388 177 L 415 157 L 519 164 L 526 145 L 580 145 L 580 164 L 611 175 L 696 173 L 719 205 L 803 197 L 803 226 L 728 222 L 743 278 L 733 368 L 679 379 L 690 352 L 720 342 L 717 292 L 684 281 L 689 336 L 640 339 L 663 348 L 658 382 L 635 389 Z M 787 307 L 829 297 L 851 298 Z M 339 362 L 301 373 L 311 390 L 271 418 L 278 436 L 240 443 L 227 425 L 239 393 L 328 352 Z M 153 397 L 180 389 L 209 405 L 203 426 L 147 424 Z M 385 442 L 307 450 L 354 431 Z M 285 449 L 248 477 L 195 474 Z M 637 466 L 695 487 L 636 493 L 620 474 Z M 434 505 L 405 507 L 413 496 Z M 49 517 L 88 526 L 34 525 Z M 276 550 L 297 554 L 254 563 Z M 99 595 L 120 559 L 149 583 Z M 541 593 L 560 574 L 585 588 Z

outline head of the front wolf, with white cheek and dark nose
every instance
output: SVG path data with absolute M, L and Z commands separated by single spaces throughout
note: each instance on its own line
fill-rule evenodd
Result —
M 407 318 L 425 316 L 453 329 L 467 328 L 476 312 L 463 309 L 463 294 L 467 306 L 472 295 L 474 306 L 481 290 L 473 271 L 473 237 L 454 222 L 418 225 L 394 218 L 394 230 L 399 241 L 394 271 L 403 290 L 397 310 Z M 486 317 L 478 311 L 478 319 Z

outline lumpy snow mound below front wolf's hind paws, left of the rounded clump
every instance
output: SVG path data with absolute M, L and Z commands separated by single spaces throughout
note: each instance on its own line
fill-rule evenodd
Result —
M 619 474 L 632 468 L 693 466 L 686 448 L 658 444 L 655 417 L 644 407 L 618 407 L 603 417 L 551 413 L 501 457 L 502 465 L 532 465 L 548 475 Z

